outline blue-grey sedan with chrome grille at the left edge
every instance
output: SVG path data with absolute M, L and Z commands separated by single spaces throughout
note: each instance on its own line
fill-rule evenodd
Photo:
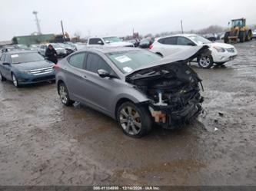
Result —
M 0 58 L 1 81 L 12 81 L 15 87 L 42 81 L 54 81 L 53 63 L 36 51 L 10 51 Z

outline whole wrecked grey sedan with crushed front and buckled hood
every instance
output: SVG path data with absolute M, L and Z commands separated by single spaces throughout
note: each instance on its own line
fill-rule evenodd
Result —
M 154 123 L 183 126 L 201 113 L 201 79 L 187 65 L 207 46 L 168 60 L 140 48 L 87 48 L 55 65 L 62 104 L 87 104 L 118 120 L 125 134 L 142 137 Z

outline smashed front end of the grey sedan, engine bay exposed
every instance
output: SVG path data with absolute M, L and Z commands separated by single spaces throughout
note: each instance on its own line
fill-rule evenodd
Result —
M 205 51 L 202 48 L 198 54 Z M 151 116 L 161 127 L 181 127 L 201 114 L 201 79 L 187 65 L 189 59 L 143 69 L 126 77 L 126 81 L 147 95 L 148 102 L 143 104 L 148 104 Z

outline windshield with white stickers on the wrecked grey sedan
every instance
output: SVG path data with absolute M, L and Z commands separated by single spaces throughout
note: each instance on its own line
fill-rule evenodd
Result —
M 123 74 L 135 71 L 138 68 L 151 67 L 161 60 L 158 54 L 145 50 L 118 51 L 106 55 Z

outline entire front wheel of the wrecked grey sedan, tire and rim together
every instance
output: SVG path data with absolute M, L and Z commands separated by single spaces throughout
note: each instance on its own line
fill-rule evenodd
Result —
M 152 127 L 151 114 L 145 106 L 136 106 L 127 101 L 118 107 L 118 124 L 123 132 L 130 137 L 143 137 Z

